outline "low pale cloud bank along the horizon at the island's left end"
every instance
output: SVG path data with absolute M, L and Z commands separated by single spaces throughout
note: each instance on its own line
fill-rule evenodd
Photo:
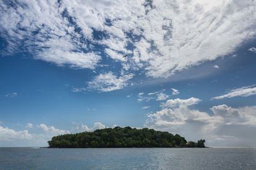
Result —
M 26 127 L 28 128 L 27 130 L 17 131 L 0 125 L 0 147 L 42 147 L 47 146 L 47 141 L 53 136 L 70 134 L 70 132 L 90 132 L 96 129 L 105 129 L 107 126 L 96 122 L 92 127 L 88 127 L 85 124 L 77 124 L 77 126 L 70 128 L 70 130 L 58 129 L 44 123 L 36 126 L 33 126 L 32 123 L 27 123 Z

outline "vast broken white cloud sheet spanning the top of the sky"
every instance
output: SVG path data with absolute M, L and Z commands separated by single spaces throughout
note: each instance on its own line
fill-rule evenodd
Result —
M 151 77 L 231 54 L 256 33 L 253 1 L 41 0 L 0 6 L 5 54 L 22 49 L 35 59 L 89 69 L 108 56 Z M 121 57 L 126 53 L 129 59 Z

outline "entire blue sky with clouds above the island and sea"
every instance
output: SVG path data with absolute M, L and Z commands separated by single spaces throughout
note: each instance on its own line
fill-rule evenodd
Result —
M 0 0 L 0 147 L 115 126 L 256 147 L 255 11 L 254 0 Z

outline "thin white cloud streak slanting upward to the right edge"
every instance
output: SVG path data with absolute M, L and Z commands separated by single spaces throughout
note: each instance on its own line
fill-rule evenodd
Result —
M 213 97 L 213 99 L 224 99 L 224 98 L 232 98 L 237 96 L 247 97 L 255 94 L 256 94 L 256 84 L 252 86 L 244 86 L 237 89 L 233 89 L 231 91 L 228 91 L 227 94 Z

